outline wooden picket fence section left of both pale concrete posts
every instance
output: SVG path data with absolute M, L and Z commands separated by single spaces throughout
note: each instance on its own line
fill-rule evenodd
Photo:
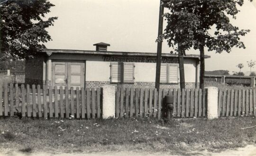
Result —
M 101 88 L 0 84 L 0 116 L 101 118 Z

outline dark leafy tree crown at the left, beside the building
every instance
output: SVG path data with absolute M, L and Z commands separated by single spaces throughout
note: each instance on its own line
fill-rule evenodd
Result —
M 45 15 L 55 5 L 48 0 L 0 0 L 0 59 L 33 57 L 51 40 L 46 28 L 57 17 Z

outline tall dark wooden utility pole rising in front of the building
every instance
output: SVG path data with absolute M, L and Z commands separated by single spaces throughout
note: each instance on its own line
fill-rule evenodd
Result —
M 158 36 L 163 34 L 163 21 L 164 21 L 163 5 L 164 3 L 160 0 Z M 160 86 L 161 57 L 162 57 L 162 41 L 157 42 L 156 70 L 155 70 L 155 88 L 157 89 L 157 91 L 159 90 L 159 86 Z

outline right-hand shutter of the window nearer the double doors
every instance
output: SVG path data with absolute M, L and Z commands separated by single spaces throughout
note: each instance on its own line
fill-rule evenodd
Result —
M 134 82 L 134 63 L 123 63 L 123 82 Z

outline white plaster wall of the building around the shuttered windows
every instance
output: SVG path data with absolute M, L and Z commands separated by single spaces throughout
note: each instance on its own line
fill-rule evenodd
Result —
M 86 81 L 110 81 L 110 61 L 103 61 L 102 56 L 81 54 L 53 54 L 52 60 L 85 60 Z M 154 82 L 156 63 L 134 62 L 135 82 Z M 185 82 L 196 82 L 196 59 L 184 58 Z M 198 73 L 199 75 L 199 73 Z

